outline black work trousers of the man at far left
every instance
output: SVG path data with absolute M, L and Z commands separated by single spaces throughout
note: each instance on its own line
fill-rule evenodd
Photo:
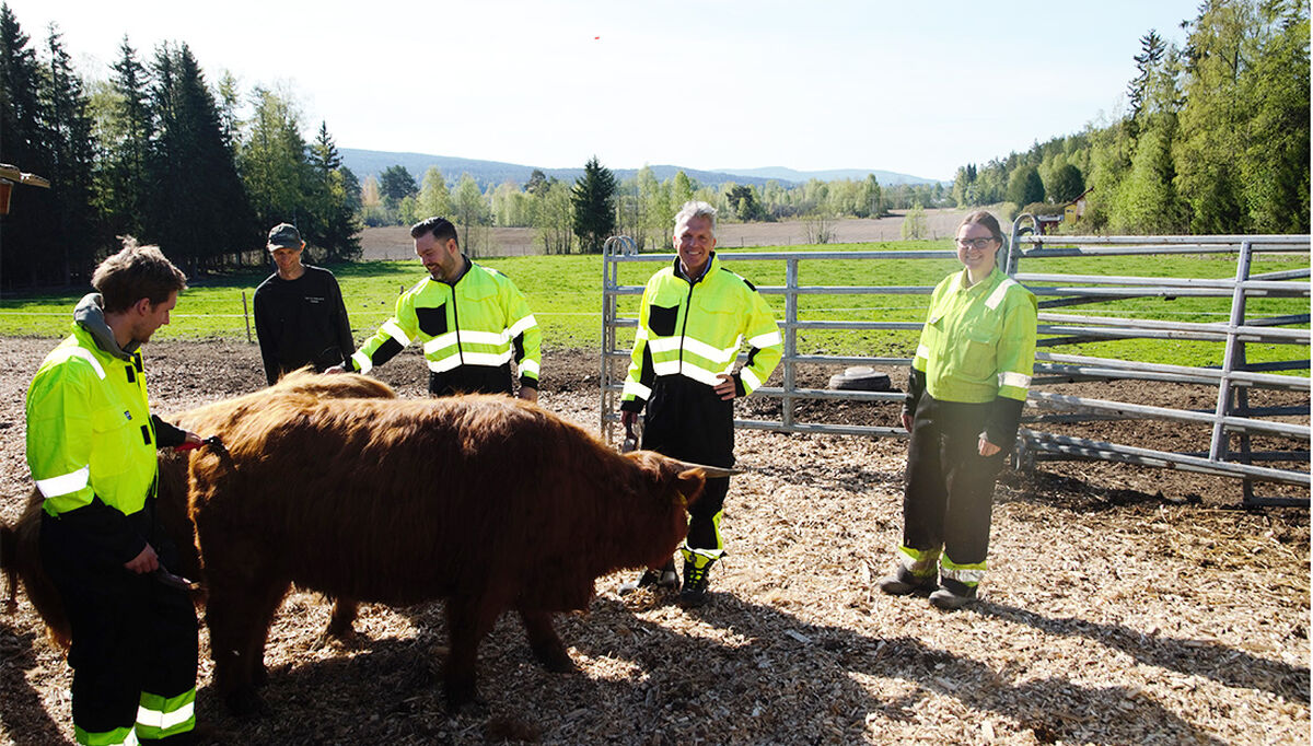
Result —
M 156 553 L 176 567 L 176 552 Z M 74 724 L 88 733 L 133 728 L 142 692 L 176 697 L 196 686 L 196 607 L 186 592 L 139 575 L 72 521 L 41 516 L 41 556 L 68 613 Z

